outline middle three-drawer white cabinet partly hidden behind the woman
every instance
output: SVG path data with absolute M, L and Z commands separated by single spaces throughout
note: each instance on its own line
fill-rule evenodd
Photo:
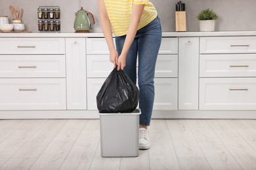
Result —
M 177 110 L 178 39 L 163 38 L 156 63 L 155 110 Z M 87 103 L 97 110 L 96 95 L 112 71 L 108 46 L 104 38 L 87 39 Z M 163 95 L 165 94 L 165 95 Z

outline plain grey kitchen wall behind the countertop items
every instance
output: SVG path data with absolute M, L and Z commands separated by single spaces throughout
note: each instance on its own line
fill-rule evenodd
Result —
M 174 0 L 151 0 L 158 10 L 163 31 L 175 31 Z M 196 18 L 203 9 L 213 9 L 219 15 L 216 31 L 255 31 L 256 1 L 255 0 L 183 0 L 186 3 L 187 30 L 199 31 Z M 37 8 L 39 6 L 59 6 L 61 10 L 61 31 L 74 32 L 75 12 L 84 7 L 95 16 L 94 32 L 101 32 L 98 17 L 97 0 L 0 0 L 0 16 L 7 15 L 11 21 L 9 6 L 24 9 L 22 21 L 27 31 L 37 32 Z

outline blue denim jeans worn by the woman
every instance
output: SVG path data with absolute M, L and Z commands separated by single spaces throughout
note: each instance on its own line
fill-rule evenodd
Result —
M 116 49 L 121 54 L 126 35 L 116 37 Z M 154 105 L 155 89 L 154 74 L 156 59 L 161 44 L 161 24 L 157 17 L 148 25 L 137 31 L 135 39 L 127 54 L 126 66 L 123 71 L 135 82 L 137 79 L 137 56 L 139 58 L 139 108 L 140 125 L 149 126 Z

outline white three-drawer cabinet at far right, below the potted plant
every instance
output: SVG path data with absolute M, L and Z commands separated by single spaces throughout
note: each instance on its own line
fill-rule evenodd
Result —
M 200 110 L 255 110 L 255 61 L 256 37 L 201 37 Z

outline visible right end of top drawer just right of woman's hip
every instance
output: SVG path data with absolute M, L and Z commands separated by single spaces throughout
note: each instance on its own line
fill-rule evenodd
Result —
M 159 54 L 178 54 L 178 38 L 163 37 Z

